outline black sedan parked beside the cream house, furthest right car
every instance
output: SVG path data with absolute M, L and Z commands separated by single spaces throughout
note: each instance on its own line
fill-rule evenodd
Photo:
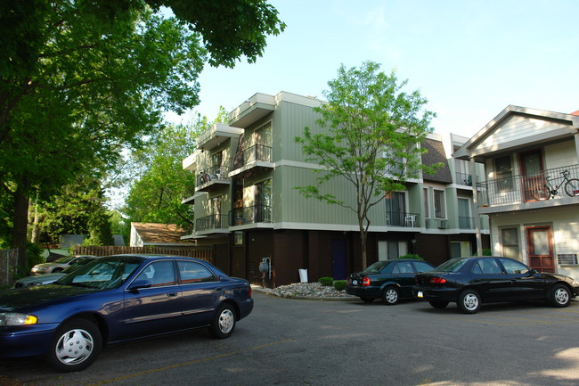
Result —
M 434 271 L 416 275 L 414 295 L 434 308 L 455 302 L 466 314 L 482 303 L 548 300 L 567 307 L 577 296 L 579 283 L 564 275 L 537 272 L 525 264 L 502 257 L 451 259 Z

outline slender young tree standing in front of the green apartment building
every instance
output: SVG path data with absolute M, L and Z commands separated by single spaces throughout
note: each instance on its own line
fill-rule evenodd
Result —
M 320 114 L 319 130 L 306 127 L 296 141 L 302 144 L 307 160 L 322 166 L 317 185 L 298 186 L 308 198 L 352 210 L 358 220 L 362 246 L 362 264 L 366 267 L 366 239 L 370 209 L 388 193 L 404 190 L 404 182 L 420 170 L 434 171 L 422 165 L 426 152 L 420 143 L 435 117 L 424 109 L 427 100 L 418 91 L 401 91 L 407 81 L 398 83 L 396 73 L 379 71 L 379 64 L 363 62 L 358 68 L 338 70 L 324 93 L 327 103 L 316 108 Z M 325 193 L 323 184 L 343 178 L 355 190 L 355 202 L 336 193 Z

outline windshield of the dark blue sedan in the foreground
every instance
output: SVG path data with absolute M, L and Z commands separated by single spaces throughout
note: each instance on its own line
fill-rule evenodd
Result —
M 126 278 L 143 262 L 135 256 L 111 256 L 94 259 L 76 271 L 61 277 L 56 283 L 80 287 L 110 289 L 125 283 Z

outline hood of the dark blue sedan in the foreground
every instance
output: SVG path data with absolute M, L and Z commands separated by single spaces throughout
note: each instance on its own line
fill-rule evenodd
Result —
M 99 291 L 102 290 L 59 284 L 21 287 L 0 292 L 0 310 L 15 311 Z

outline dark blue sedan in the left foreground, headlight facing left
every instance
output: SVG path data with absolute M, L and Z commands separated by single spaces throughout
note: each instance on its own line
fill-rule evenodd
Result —
M 227 338 L 252 309 L 249 282 L 206 261 L 103 257 L 55 283 L 0 292 L 0 357 L 44 356 L 56 370 L 78 371 L 105 343 L 201 327 Z

